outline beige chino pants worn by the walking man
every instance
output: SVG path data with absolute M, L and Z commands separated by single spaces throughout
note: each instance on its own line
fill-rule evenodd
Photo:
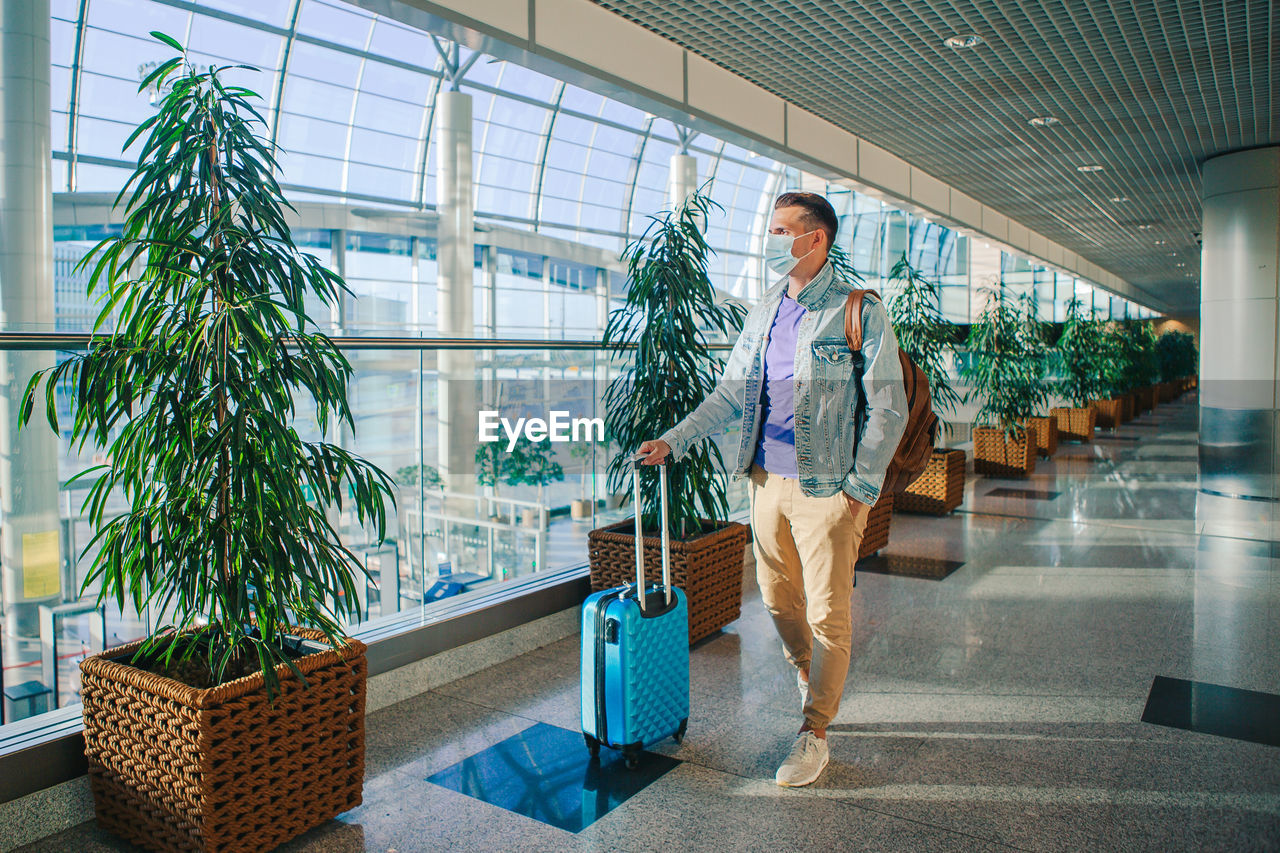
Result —
M 804 717 L 826 729 L 840 710 L 854 624 L 854 564 L 870 507 L 842 492 L 809 497 L 800 482 L 751 466 L 751 549 L 764 607 L 787 661 L 809 670 Z

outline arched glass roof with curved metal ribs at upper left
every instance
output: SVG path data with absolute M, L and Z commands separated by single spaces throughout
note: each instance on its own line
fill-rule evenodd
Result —
M 52 0 L 52 9 L 56 190 L 120 188 L 134 161 L 122 145 L 151 109 L 138 81 L 172 55 L 148 35 L 159 29 L 200 64 L 260 69 L 234 79 L 262 96 L 293 197 L 434 205 L 434 105 L 448 82 L 429 33 L 340 0 Z M 474 99 L 477 220 L 616 251 L 664 206 L 678 150 L 666 119 L 488 56 L 461 91 Z M 724 207 L 708 236 L 717 279 L 750 293 L 783 170 L 708 136 L 690 152 Z

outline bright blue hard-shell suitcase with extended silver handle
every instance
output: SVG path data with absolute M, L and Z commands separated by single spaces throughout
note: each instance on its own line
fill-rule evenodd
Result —
M 593 593 L 582 605 L 582 736 L 593 757 L 602 744 L 621 749 L 627 767 L 664 738 L 680 743 L 689 725 L 689 605 L 671 585 L 667 466 L 660 469 L 663 584 L 645 585 L 635 461 L 636 583 Z

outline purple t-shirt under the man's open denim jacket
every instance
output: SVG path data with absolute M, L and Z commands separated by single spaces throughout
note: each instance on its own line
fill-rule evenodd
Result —
M 769 329 L 764 350 L 764 387 L 760 392 L 760 443 L 755 447 L 755 464 L 769 474 L 799 479 L 796 465 L 796 333 L 803 305 L 782 295 L 782 304 Z

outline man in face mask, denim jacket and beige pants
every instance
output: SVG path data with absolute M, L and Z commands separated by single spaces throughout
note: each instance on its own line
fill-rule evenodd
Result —
M 808 785 L 829 757 L 852 646 L 850 597 L 867 514 L 906 425 L 897 339 L 884 306 L 863 300 L 864 368 L 845 341 L 845 300 L 827 254 L 840 220 L 812 192 L 778 196 L 765 264 L 781 275 L 742 325 L 716 389 L 640 446 L 646 465 L 680 459 L 733 420 L 735 474 L 750 478 L 760 597 L 797 670 L 804 725 L 777 784 Z

